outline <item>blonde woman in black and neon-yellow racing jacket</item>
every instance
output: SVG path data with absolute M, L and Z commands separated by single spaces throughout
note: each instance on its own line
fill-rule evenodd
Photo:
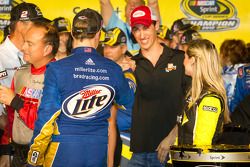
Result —
M 211 145 L 230 122 L 221 63 L 214 44 L 206 39 L 190 43 L 184 59 L 192 77 L 187 105 L 178 127 L 178 144 Z

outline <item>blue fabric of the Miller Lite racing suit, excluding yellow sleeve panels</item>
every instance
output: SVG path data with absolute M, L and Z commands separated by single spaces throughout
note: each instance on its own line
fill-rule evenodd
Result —
M 79 47 L 47 66 L 44 85 L 31 144 L 61 110 L 56 120 L 60 134 L 52 136 L 60 143 L 53 166 L 106 166 L 112 101 L 129 108 L 134 100 L 120 66 L 94 48 Z

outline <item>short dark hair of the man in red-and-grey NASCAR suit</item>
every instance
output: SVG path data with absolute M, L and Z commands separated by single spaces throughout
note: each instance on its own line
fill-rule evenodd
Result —
M 34 22 L 33 26 L 46 29 L 47 33 L 44 35 L 44 42 L 53 47 L 52 54 L 55 56 L 59 47 L 59 35 L 56 27 L 48 22 Z

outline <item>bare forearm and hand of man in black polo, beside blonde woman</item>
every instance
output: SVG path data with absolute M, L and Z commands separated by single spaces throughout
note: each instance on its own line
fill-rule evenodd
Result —
M 161 141 L 156 151 L 158 152 L 157 156 L 161 163 L 166 161 L 168 152 L 170 151 L 170 146 L 172 146 L 178 135 L 178 126 L 171 130 L 171 132 Z

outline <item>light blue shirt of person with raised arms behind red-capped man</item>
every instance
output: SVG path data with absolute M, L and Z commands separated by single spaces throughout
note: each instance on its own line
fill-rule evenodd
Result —
M 128 47 L 129 51 L 134 52 L 134 51 L 138 51 L 140 49 L 140 46 L 137 43 L 133 43 L 133 41 L 131 39 L 130 26 L 127 23 L 123 22 L 121 19 L 119 19 L 117 14 L 113 11 L 112 16 L 109 20 L 109 23 L 105 27 L 105 29 L 108 30 L 108 29 L 111 29 L 114 27 L 120 28 L 126 34 L 126 37 L 128 39 L 127 40 L 127 47 Z

